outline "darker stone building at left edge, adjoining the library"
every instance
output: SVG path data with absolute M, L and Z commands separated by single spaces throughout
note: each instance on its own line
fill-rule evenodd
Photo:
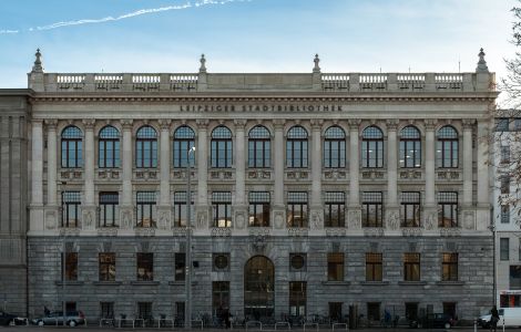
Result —
M 0 308 L 27 314 L 28 90 L 0 90 Z

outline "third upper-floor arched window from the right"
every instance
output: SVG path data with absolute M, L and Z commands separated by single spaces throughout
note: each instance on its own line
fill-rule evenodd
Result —
M 361 167 L 384 167 L 384 134 L 377 126 L 369 126 L 361 133 Z

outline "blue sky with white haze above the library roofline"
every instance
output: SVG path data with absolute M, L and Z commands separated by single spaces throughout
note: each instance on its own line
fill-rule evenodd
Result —
M 474 71 L 478 52 L 504 74 L 515 0 L 0 0 L 0 87 L 45 72 Z M 58 22 L 116 18 L 39 30 Z

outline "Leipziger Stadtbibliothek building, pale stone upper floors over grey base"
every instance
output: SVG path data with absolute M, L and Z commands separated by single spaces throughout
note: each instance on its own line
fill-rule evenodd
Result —
M 40 56 L 30 315 L 63 299 L 92 320 L 181 314 L 188 176 L 194 314 L 473 318 L 492 303 L 482 52 L 454 74 L 323 73 L 318 56 L 298 74 L 214 74 L 204 56 L 193 74 L 65 74 Z

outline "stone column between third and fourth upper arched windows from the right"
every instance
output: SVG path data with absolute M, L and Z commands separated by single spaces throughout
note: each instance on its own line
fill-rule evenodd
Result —
M 348 205 L 348 228 L 361 228 L 361 210 L 359 194 L 359 174 L 360 174 L 360 149 L 358 144 L 359 126 L 361 121 L 358 118 L 349 120 L 349 205 Z

